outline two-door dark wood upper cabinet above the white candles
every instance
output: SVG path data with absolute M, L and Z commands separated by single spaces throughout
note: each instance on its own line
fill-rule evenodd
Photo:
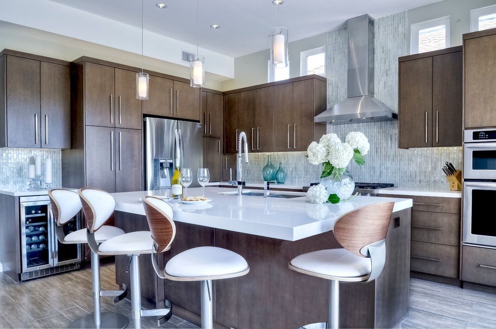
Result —
M 0 147 L 71 147 L 69 63 L 5 50 L 0 76 Z

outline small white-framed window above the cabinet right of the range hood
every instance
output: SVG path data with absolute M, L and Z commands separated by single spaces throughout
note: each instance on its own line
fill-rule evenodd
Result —
M 425 53 L 449 47 L 449 16 L 412 24 L 411 53 Z

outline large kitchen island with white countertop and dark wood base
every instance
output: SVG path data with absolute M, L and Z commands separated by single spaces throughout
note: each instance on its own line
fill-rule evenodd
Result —
M 201 194 L 188 189 L 188 194 Z M 231 193 L 223 195 L 221 193 Z M 140 198 L 154 192 L 113 194 L 115 225 L 126 233 L 149 230 Z M 288 262 L 303 253 L 340 248 L 332 234 L 343 214 L 372 203 L 394 201 L 386 238 L 386 265 L 370 283 L 342 283 L 341 327 L 393 327 L 408 310 L 410 272 L 411 199 L 356 197 L 337 205 L 314 205 L 303 193 L 284 192 L 295 198 L 263 198 L 232 194 L 232 189 L 206 188 L 206 205 L 170 202 L 176 236 L 171 249 L 159 256 L 159 266 L 174 255 L 193 247 L 217 246 L 243 256 L 250 273 L 213 283 L 215 327 L 298 328 L 321 322 L 327 316 L 327 281 L 297 273 Z M 199 323 L 198 282 L 159 279 L 149 256 L 140 257 L 143 305 L 173 304 L 178 316 Z M 129 286 L 128 257 L 116 257 L 116 282 Z M 303 302 L 305 301 L 305 302 Z

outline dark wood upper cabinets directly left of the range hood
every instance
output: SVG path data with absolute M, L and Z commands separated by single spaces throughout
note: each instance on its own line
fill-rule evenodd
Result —
M 252 152 L 304 151 L 326 133 L 314 117 L 326 109 L 326 79 L 306 76 L 226 92 L 224 153 L 237 152 L 246 133 Z

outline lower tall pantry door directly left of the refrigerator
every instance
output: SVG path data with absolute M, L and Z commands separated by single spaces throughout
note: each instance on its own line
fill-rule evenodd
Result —
M 115 191 L 141 191 L 141 130 L 115 129 Z

